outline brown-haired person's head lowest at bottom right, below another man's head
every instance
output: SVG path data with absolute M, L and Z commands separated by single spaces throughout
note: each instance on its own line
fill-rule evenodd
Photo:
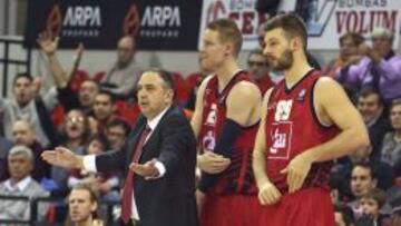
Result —
M 378 220 L 380 209 L 385 204 L 385 194 L 379 188 L 372 188 L 360 198 L 359 203 L 363 214 L 373 215 L 374 220 Z

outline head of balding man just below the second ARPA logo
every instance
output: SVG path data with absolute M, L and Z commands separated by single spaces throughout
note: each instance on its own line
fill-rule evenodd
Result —
M 131 36 L 123 37 L 117 43 L 117 65 L 126 67 L 135 55 L 135 39 Z

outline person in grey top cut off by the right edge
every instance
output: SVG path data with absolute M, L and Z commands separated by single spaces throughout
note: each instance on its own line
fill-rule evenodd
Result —
M 390 122 L 394 131 L 384 135 L 380 153 L 381 159 L 394 167 L 397 163 L 401 161 L 401 99 L 391 104 Z M 395 176 L 401 177 L 401 174 Z

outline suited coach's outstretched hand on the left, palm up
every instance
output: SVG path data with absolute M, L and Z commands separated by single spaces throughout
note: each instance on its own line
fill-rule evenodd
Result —
M 41 154 L 41 157 L 47 163 L 55 166 L 60 166 L 69 169 L 84 168 L 82 158 L 63 147 L 57 147 L 55 150 L 45 150 Z

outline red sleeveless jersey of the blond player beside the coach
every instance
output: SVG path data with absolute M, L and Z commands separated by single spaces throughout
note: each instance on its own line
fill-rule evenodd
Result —
M 199 146 L 202 151 L 213 151 L 226 120 L 226 98 L 233 87 L 241 81 L 251 81 L 245 71 L 237 72 L 224 90 L 218 92 L 218 79 L 214 76 L 207 82 L 203 100 Z M 215 194 L 256 194 L 252 171 L 252 151 L 258 124 L 243 127 L 236 140 L 229 167 L 219 175 L 213 188 Z

